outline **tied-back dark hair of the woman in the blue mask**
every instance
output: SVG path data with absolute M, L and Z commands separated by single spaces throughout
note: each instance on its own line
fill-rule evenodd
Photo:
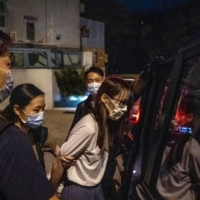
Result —
M 40 95 L 44 95 L 44 92 L 33 84 L 24 83 L 16 86 L 10 95 L 9 105 L 2 112 L 3 117 L 8 121 L 14 122 L 16 115 L 13 106 L 18 105 L 20 108 L 24 109 L 31 100 Z

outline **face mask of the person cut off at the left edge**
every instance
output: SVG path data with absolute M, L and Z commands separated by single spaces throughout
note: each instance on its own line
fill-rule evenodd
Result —
M 0 103 L 1 103 L 10 96 L 13 90 L 14 81 L 10 70 L 5 71 L 4 69 L 1 68 L 0 70 L 7 74 L 6 84 L 3 88 L 0 89 Z

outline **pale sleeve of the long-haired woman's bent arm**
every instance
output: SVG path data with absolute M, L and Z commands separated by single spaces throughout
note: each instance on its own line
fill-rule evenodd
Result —
M 80 120 L 71 131 L 68 140 L 61 146 L 61 155 L 78 157 L 89 146 L 95 132 L 89 128 L 91 124 Z

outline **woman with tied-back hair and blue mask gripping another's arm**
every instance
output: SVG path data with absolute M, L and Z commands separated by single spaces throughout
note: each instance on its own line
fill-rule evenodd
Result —
M 36 158 L 45 169 L 43 151 L 48 151 L 56 157 L 60 147 L 48 129 L 42 126 L 44 107 L 44 92 L 33 84 L 24 83 L 13 89 L 9 105 L 2 115 L 27 134 Z

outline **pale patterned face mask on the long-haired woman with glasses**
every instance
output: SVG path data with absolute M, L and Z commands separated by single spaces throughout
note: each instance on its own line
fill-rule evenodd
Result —
M 115 108 L 113 110 L 111 110 L 109 108 L 109 106 L 107 104 L 105 104 L 106 107 L 108 108 L 109 112 L 110 112 L 108 117 L 111 120 L 116 121 L 116 120 L 120 119 L 124 115 L 124 113 L 127 111 L 127 106 L 120 108 L 119 104 L 114 104 L 112 101 L 110 101 L 110 102 L 114 105 Z M 116 105 L 118 105 L 118 106 L 116 106 Z

